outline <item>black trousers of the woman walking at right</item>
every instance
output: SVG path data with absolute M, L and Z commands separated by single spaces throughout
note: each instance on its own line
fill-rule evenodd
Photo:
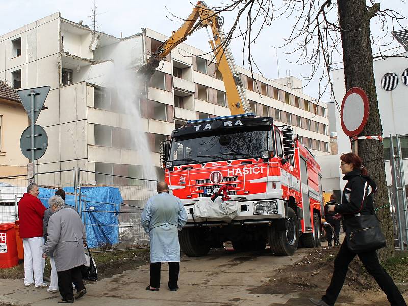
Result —
M 406 306 L 404 298 L 399 292 L 397 286 L 395 286 L 394 281 L 379 263 L 377 252 L 371 251 L 355 254 L 348 249 L 346 239 L 344 239 L 335 259 L 335 267 L 333 275 L 331 276 L 330 286 L 328 286 L 326 294 L 323 295 L 322 300 L 331 306 L 335 304 L 340 290 L 343 287 L 348 265 L 356 255 L 360 258 L 367 272 L 375 278 L 379 287 L 381 287 L 382 291 L 387 295 L 387 299 L 391 306 Z

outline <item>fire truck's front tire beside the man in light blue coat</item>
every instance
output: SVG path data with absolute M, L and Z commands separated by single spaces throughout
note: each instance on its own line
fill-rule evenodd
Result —
M 210 251 L 210 245 L 200 239 L 197 228 L 184 227 L 179 234 L 180 247 L 189 257 L 204 256 Z

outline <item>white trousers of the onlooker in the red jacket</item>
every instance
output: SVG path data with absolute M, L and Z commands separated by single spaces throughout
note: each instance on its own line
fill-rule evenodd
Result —
M 44 238 L 23 238 L 22 244 L 24 246 L 24 285 L 35 283 L 35 286 L 41 286 L 45 268 L 45 259 L 42 258 Z

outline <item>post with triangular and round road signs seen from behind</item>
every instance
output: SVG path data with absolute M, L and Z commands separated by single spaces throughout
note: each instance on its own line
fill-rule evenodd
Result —
M 48 145 L 48 137 L 45 133 L 45 130 L 42 129 L 41 126 L 35 125 L 35 122 L 37 121 L 37 118 L 40 115 L 40 112 L 42 110 L 42 107 L 44 106 L 44 102 L 45 102 L 45 99 L 47 98 L 50 88 L 51 88 L 50 86 L 43 86 L 43 87 L 23 89 L 23 90 L 17 91 L 17 94 L 20 97 L 21 103 L 24 106 L 24 109 L 30 118 L 30 132 L 29 132 L 30 134 L 28 136 L 26 133 L 28 129 L 25 129 L 25 131 L 21 135 L 20 147 L 21 147 L 22 154 L 28 159 L 30 159 L 31 163 L 33 163 L 33 170 L 32 170 L 32 173 L 30 173 L 32 177 L 30 176 L 28 177 L 28 179 L 29 180 L 32 179 L 32 181 L 34 181 L 34 178 L 35 178 L 34 161 L 44 155 L 46 147 Z M 36 132 L 35 126 L 38 126 L 39 128 L 42 129 L 42 131 L 40 131 L 42 132 L 41 134 L 35 133 Z M 37 128 L 37 130 L 39 129 Z M 46 143 L 44 143 L 43 148 L 41 147 L 37 148 L 35 146 L 36 137 L 38 136 L 46 137 Z M 27 137 L 30 137 L 30 147 L 29 148 L 27 148 L 27 146 L 23 146 L 23 144 L 26 143 L 25 139 L 23 138 L 27 138 Z M 36 150 L 43 150 L 42 154 L 36 155 Z M 27 151 L 30 151 L 30 155 L 27 155 Z M 29 172 L 27 172 L 27 174 L 29 175 Z

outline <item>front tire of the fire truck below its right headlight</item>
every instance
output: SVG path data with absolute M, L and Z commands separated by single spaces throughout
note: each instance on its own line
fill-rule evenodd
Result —
M 271 252 L 278 256 L 293 255 L 299 244 L 299 222 L 292 208 L 288 208 L 287 231 L 279 231 L 272 226 L 268 228 L 268 242 Z

